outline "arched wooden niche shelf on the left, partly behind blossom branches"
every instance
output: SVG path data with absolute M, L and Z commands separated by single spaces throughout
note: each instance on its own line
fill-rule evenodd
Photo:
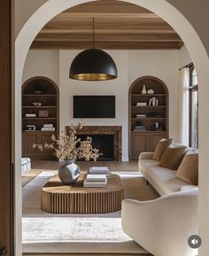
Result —
M 59 131 L 58 85 L 48 77 L 35 76 L 22 85 L 22 156 L 54 159 L 53 151 L 39 151 L 33 144 L 50 143 Z

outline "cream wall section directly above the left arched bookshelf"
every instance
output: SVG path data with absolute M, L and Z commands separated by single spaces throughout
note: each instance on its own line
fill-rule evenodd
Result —
M 22 82 L 33 76 L 46 76 L 59 82 L 58 50 L 29 50 L 24 66 Z

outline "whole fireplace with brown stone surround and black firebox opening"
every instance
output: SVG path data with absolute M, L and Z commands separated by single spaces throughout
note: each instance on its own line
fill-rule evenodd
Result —
M 68 133 L 69 127 L 66 127 Z M 92 145 L 99 150 L 97 160 L 120 161 L 121 160 L 121 127 L 120 126 L 84 126 L 77 131 L 78 137 L 84 140 L 92 137 Z

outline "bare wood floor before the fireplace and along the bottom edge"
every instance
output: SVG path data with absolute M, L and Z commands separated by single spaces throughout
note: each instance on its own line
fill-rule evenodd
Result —
M 128 172 L 128 171 L 137 171 L 138 170 L 138 162 L 129 161 L 129 162 L 116 162 L 116 161 L 98 161 L 98 162 L 85 162 L 78 161 L 77 164 L 81 167 L 81 169 L 89 169 L 89 167 L 93 166 L 106 166 L 109 167 L 111 171 L 117 172 Z M 33 169 L 45 169 L 45 170 L 57 170 L 62 163 L 58 161 L 46 161 L 46 160 L 32 160 L 32 168 Z M 23 254 L 24 256 L 63 256 L 64 254 Z M 66 254 L 65 256 L 90 256 L 90 255 L 99 255 L 99 256 L 133 256 L 133 254 Z M 135 256 L 151 256 L 151 254 L 134 254 Z

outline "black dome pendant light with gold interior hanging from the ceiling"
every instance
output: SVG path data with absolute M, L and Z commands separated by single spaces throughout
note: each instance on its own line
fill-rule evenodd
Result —
M 95 49 L 94 18 L 93 48 L 81 51 L 70 66 L 71 79 L 104 81 L 117 78 L 118 71 L 112 57 L 104 50 Z

